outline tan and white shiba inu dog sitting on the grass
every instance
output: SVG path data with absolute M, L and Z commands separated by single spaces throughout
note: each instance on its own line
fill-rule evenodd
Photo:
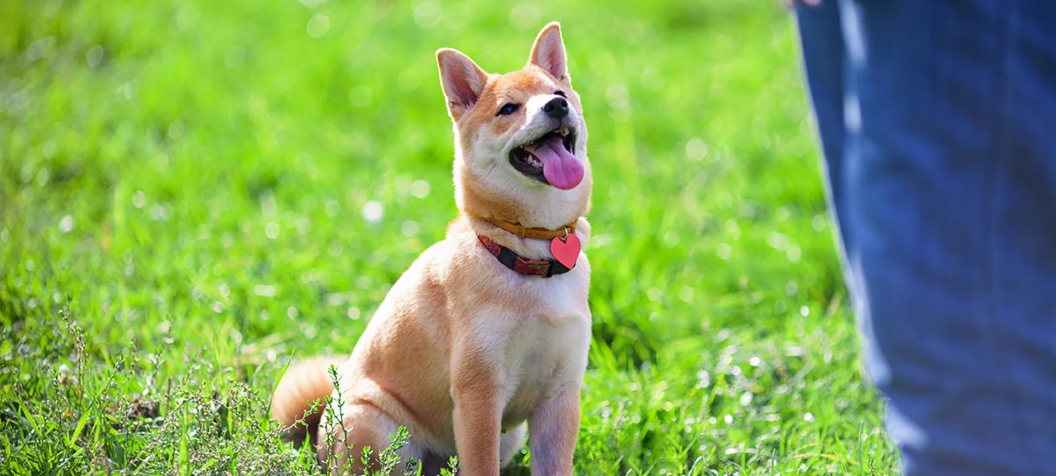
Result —
M 376 453 L 406 426 L 400 456 L 422 461 L 423 474 L 457 455 L 459 474 L 498 475 L 527 432 L 532 474 L 570 475 L 590 344 L 581 246 L 591 178 L 561 29 L 546 25 L 512 73 L 485 73 L 450 49 L 436 59 L 458 218 L 396 281 L 352 356 L 293 366 L 271 414 L 344 470 L 362 471 L 362 447 Z M 301 418 L 332 393 L 342 421 Z M 333 447 L 327 433 L 338 433 Z

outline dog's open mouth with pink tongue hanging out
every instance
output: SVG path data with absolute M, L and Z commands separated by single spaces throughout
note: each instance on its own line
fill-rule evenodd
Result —
M 576 158 L 576 129 L 559 127 L 510 150 L 510 165 L 521 173 L 563 190 L 583 181 L 583 164 Z

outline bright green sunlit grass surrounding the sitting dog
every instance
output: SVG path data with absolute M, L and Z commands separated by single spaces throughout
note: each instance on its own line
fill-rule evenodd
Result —
M 772 2 L 0 18 L 0 473 L 313 471 L 267 419 L 276 380 L 351 351 L 455 216 L 434 51 L 516 69 L 553 19 L 596 184 L 577 474 L 897 471 Z

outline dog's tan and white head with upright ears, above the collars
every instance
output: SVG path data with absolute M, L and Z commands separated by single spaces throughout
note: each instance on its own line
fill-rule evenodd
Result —
M 590 198 L 587 128 L 558 23 L 524 69 L 485 73 L 469 56 L 436 53 L 455 132 L 455 199 L 464 213 L 559 227 Z

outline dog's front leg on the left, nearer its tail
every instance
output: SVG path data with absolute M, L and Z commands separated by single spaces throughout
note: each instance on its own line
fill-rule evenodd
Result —
M 494 374 L 463 360 L 454 373 L 455 446 L 458 474 L 498 476 L 499 409 Z M 468 364 L 468 365 L 467 365 Z

